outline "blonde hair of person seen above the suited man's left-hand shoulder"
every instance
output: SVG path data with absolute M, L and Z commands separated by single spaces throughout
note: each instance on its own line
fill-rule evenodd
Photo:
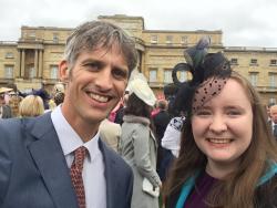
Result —
M 40 96 L 28 95 L 19 104 L 19 116 L 35 117 L 44 113 L 43 101 Z

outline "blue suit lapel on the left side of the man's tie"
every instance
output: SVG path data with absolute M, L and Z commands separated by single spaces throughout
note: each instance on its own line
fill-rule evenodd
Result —
M 39 117 L 30 127 L 38 139 L 29 146 L 30 154 L 58 208 L 76 208 L 69 168 L 50 114 Z

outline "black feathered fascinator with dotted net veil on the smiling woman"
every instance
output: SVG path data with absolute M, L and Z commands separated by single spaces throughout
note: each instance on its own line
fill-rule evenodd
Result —
M 186 63 L 176 64 L 172 71 L 173 82 L 178 86 L 174 105 L 187 115 L 219 94 L 232 72 L 229 61 L 222 52 L 208 53 L 209 44 L 208 38 L 201 39 L 195 46 L 184 51 Z M 192 80 L 181 82 L 177 77 L 181 71 L 189 72 Z

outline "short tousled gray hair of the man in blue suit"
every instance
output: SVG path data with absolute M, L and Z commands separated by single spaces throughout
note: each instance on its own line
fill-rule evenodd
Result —
M 116 45 L 127 63 L 129 72 L 137 63 L 137 51 L 134 40 L 121 28 L 105 21 L 90 21 L 79 25 L 68 38 L 64 49 L 64 60 L 73 67 L 81 52 L 103 48 L 109 51 Z

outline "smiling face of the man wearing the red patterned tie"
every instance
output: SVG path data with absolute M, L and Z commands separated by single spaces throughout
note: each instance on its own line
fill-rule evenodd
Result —
M 60 70 L 66 64 L 61 63 Z M 90 125 L 103 121 L 123 96 L 129 69 L 122 53 L 113 46 L 82 52 L 65 76 L 64 116 L 69 123 Z

